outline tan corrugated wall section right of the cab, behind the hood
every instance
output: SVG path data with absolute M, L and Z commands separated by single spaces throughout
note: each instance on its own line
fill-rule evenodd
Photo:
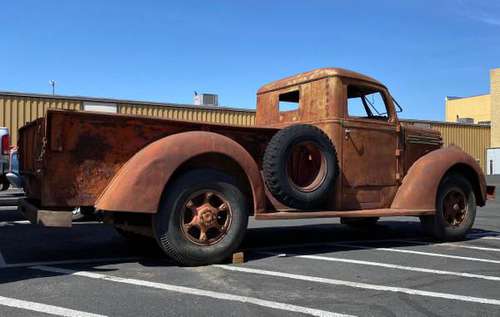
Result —
M 418 125 L 441 132 L 445 145 L 454 144 L 469 153 L 483 171 L 486 171 L 486 149 L 490 147 L 489 126 L 466 125 L 451 122 L 413 122 L 403 121 L 404 125 Z

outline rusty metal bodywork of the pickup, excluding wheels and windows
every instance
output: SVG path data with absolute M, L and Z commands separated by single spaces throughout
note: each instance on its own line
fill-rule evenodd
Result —
M 387 119 L 350 117 L 350 85 L 379 91 L 387 105 Z M 280 112 L 280 94 L 291 92 L 299 92 L 298 110 Z M 387 88 L 340 69 L 320 69 L 263 86 L 257 95 L 254 128 L 49 111 L 43 121 L 22 130 L 22 166 L 32 171 L 27 173 L 28 196 L 38 198 L 42 206 L 57 208 L 94 205 L 100 196 L 97 208 L 101 210 L 155 213 L 168 180 L 178 168 L 199 167 L 199 162 L 186 165 L 198 156 L 205 161 L 202 167 L 234 173 L 241 168 L 257 215 L 283 210 L 286 206 L 273 204 L 269 193 L 265 197 L 259 171 L 272 135 L 299 122 L 315 125 L 330 137 L 340 176 L 325 208 L 329 211 L 273 213 L 271 218 L 332 217 L 339 212 L 360 217 L 363 209 L 361 214 L 367 217 L 430 214 L 441 177 L 455 164 L 477 177 L 478 204 L 484 204 L 484 175 L 472 157 L 457 148 L 439 149 L 439 132 L 401 126 Z M 35 126 L 45 134 L 35 133 Z M 204 156 L 209 153 L 237 164 Z

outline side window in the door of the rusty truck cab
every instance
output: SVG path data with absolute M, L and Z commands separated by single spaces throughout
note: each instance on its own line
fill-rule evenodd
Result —
M 381 91 L 371 87 L 347 87 L 347 113 L 349 117 L 389 121 L 388 107 Z

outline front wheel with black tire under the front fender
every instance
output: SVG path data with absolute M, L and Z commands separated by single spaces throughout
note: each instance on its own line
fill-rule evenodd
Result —
M 451 195 L 451 196 L 450 196 Z M 449 201 L 453 196 L 458 199 L 456 216 L 450 216 Z M 463 206 L 461 206 L 463 205 Z M 424 232 L 439 241 L 463 240 L 472 228 L 476 218 L 476 197 L 470 182 L 460 174 L 446 175 L 439 185 L 436 197 L 436 214 L 421 216 Z M 459 219 L 459 220 L 457 220 Z

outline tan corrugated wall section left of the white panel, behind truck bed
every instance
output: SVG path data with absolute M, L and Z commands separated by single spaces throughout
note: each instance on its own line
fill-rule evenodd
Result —
M 66 99 L 0 95 L 0 126 L 9 128 L 11 144 L 17 144 L 17 130 L 43 116 L 49 108 L 80 110 L 81 102 Z

